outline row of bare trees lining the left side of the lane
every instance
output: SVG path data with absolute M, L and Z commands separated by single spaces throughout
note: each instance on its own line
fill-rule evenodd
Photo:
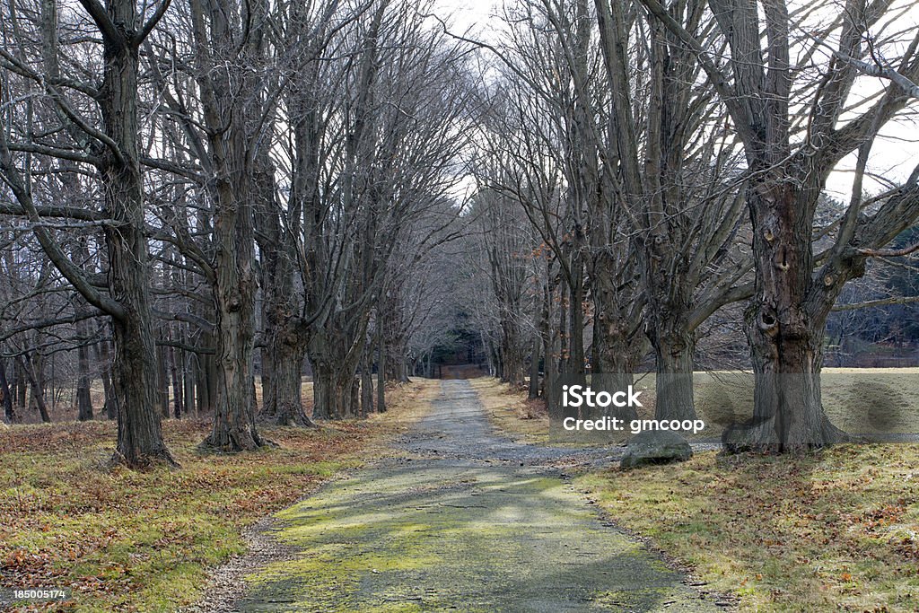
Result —
M 3 340 L 17 373 L 37 374 L 28 358 L 53 338 L 78 347 L 88 394 L 82 356 L 110 346 L 116 460 L 132 467 L 172 461 L 168 387 L 176 413 L 213 411 L 207 447 L 266 444 L 258 349 L 260 412 L 280 424 L 312 424 L 307 356 L 313 417 L 382 410 L 370 370 L 404 378 L 428 316 L 413 265 L 456 232 L 469 46 L 405 1 L 3 11 Z

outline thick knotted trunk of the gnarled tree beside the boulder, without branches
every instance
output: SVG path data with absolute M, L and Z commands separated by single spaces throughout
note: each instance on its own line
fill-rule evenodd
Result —
M 821 399 L 829 308 L 811 308 L 820 294 L 811 288 L 811 233 L 800 232 L 798 212 L 807 210 L 799 200 L 809 197 L 817 196 L 796 192 L 789 183 L 748 189 L 756 260 L 755 296 L 747 318 L 754 419 L 726 435 L 735 450 L 798 452 L 842 437 L 824 414 Z

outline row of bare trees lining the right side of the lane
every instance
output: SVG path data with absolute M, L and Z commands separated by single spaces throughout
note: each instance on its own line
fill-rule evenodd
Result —
M 838 440 L 819 384 L 827 318 L 869 259 L 909 269 L 897 258 L 919 248 L 919 166 L 871 174 L 879 133 L 917 108 L 916 13 L 867 0 L 505 7 L 501 42 L 480 43 L 495 60 L 474 205 L 501 376 L 522 381 L 529 356 L 547 381 L 589 364 L 625 385 L 650 345 L 657 416 L 692 418 L 700 326 L 743 319 L 754 420 L 732 445 Z M 851 196 L 835 202 L 824 188 L 847 157 Z

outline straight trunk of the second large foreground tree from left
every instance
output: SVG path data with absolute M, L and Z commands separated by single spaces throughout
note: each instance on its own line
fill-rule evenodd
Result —
M 190 2 L 204 124 L 208 130 L 214 180 L 213 294 L 217 320 L 217 395 L 210 436 L 202 445 L 221 451 L 244 451 L 266 444 L 255 426 L 255 199 L 260 197 L 250 160 L 258 145 L 261 85 L 258 71 L 247 63 L 261 62 L 266 18 L 264 3 L 247 6 L 254 29 L 244 47 L 236 46 L 233 29 L 238 15 L 226 3 L 206 9 Z M 216 65 L 226 66 L 215 70 Z M 251 72 L 250 72 L 251 71 Z M 238 96 L 244 90 L 247 96 Z M 252 131 L 250 134 L 249 131 Z

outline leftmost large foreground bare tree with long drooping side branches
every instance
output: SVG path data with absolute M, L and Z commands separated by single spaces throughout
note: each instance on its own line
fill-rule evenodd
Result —
M 141 467 L 156 460 L 172 462 L 154 408 L 155 346 L 137 113 L 138 48 L 169 3 L 165 0 L 149 11 L 139 11 L 132 0 L 112 0 L 106 6 L 96 0 L 81 0 L 80 4 L 101 38 L 101 45 L 87 43 L 93 48 L 91 57 L 95 62 L 101 51 L 102 80 L 98 88 L 61 73 L 55 3 L 41 5 L 39 31 L 40 40 L 44 42 L 40 45 L 39 58 L 33 60 L 24 52 L 17 56 L 6 51 L 16 49 L 17 42 L 12 36 L 14 32 L 5 32 L 12 43 L 0 50 L 5 83 L 9 84 L 11 75 L 15 74 L 23 86 L 29 88 L 30 94 L 47 101 L 52 108 L 51 116 L 58 118 L 62 134 L 66 135 L 63 142 L 48 143 L 33 138 L 35 132 L 31 125 L 22 131 L 19 126 L 12 130 L 14 119 L 25 116 L 28 124 L 32 114 L 28 108 L 18 116 L 12 115 L 13 108 L 7 111 L 0 128 L 0 170 L 18 204 L 18 209 L 7 212 L 17 212 L 28 218 L 54 266 L 87 302 L 112 318 L 113 388 L 119 415 L 115 459 L 131 467 Z M 9 5 L 11 9 L 13 6 Z M 10 17 L 13 23 L 15 17 Z M 19 43 L 25 45 L 25 40 Z M 20 50 L 23 49 L 21 45 Z M 3 96 L 11 99 L 6 92 Z M 24 104 L 27 107 L 31 107 L 31 97 L 26 96 Z M 72 101 L 72 97 L 79 102 Z M 99 125 L 83 110 L 87 107 L 97 108 L 101 118 Z M 11 141 L 7 135 L 13 133 L 25 138 Z M 43 133 L 56 131 L 49 125 Z M 29 166 L 20 167 L 17 153 L 24 154 L 27 161 L 30 155 L 41 155 L 95 169 L 104 186 L 102 210 L 68 210 L 36 203 L 30 186 Z M 73 218 L 103 226 L 108 251 L 108 291 L 99 289 L 85 270 L 74 264 L 48 229 L 44 217 Z

